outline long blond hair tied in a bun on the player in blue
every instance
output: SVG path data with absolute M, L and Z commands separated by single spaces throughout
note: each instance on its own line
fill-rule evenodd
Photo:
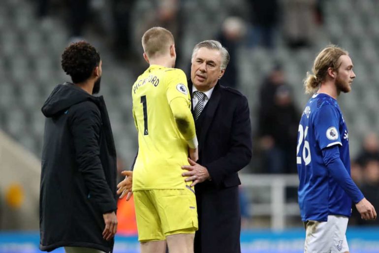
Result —
M 339 59 L 343 55 L 348 55 L 348 52 L 336 45 L 327 46 L 317 55 L 312 73 L 307 72 L 307 77 L 304 79 L 306 94 L 313 94 L 317 91 L 320 84 L 325 81 L 329 67 L 338 70 L 341 65 Z

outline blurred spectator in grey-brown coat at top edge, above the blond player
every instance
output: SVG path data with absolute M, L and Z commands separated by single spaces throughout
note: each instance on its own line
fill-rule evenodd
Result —
M 283 0 L 283 32 L 287 45 L 310 46 L 316 30 L 316 0 Z

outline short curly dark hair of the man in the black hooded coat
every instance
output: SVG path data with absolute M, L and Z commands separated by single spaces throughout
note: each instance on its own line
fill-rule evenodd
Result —
M 79 41 L 66 47 L 62 54 L 62 68 L 71 76 L 73 83 L 87 80 L 100 63 L 100 55 L 95 47 L 85 41 Z

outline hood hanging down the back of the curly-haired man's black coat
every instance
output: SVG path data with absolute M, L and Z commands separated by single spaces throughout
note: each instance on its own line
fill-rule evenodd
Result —
M 66 110 L 70 106 L 86 101 L 95 100 L 93 95 L 88 94 L 72 83 L 57 85 L 42 106 L 42 113 L 47 118 Z

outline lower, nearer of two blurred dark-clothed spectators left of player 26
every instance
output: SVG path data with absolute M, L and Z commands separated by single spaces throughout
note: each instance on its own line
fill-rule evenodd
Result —
M 299 113 L 292 100 L 292 90 L 281 85 L 275 92 L 273 106 L 269 106 L 259 122 L 264 171 L 296 173 L 297 127 Z

